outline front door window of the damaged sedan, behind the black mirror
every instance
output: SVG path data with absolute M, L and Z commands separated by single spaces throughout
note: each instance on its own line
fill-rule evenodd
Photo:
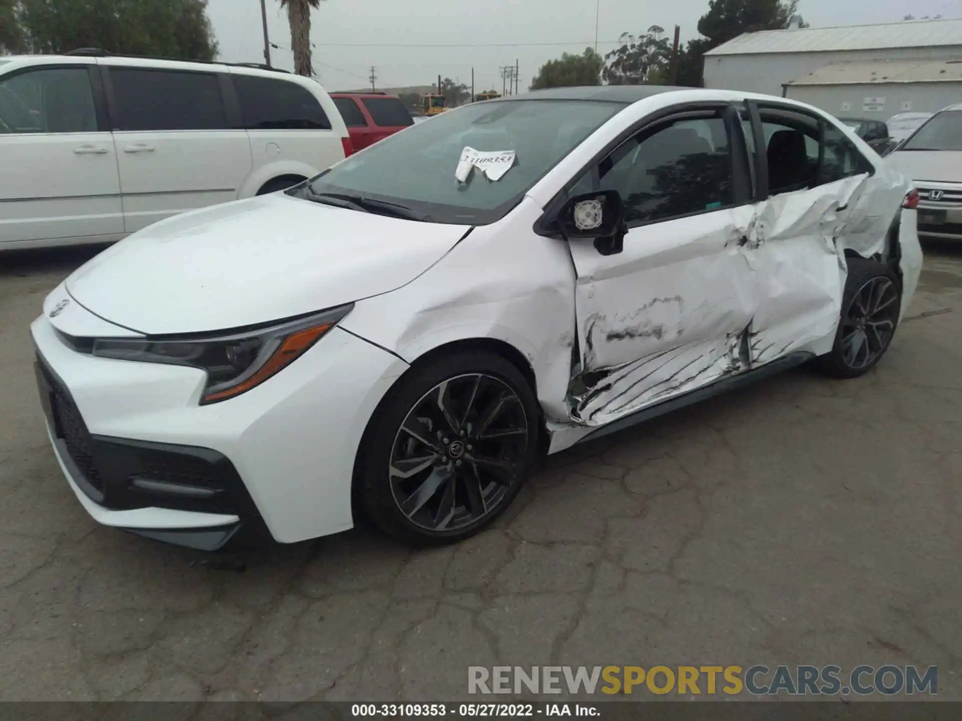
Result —
M 721 117 L 678 120 L 628 140 L 598 167 L 603 190 L 618 190 L 629 224 L 734 203 L 728 136 Z

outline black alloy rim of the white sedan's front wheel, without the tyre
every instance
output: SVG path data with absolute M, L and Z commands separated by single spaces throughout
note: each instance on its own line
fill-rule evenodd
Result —
M 528 428 L 518 393 L 493 375 L 435 385 L 394 436 L 388 474 L 398 510 L 429 532 L 483 522 L 519 481 Z

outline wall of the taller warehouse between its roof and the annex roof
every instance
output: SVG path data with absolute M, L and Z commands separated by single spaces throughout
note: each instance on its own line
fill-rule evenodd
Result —
M 952 47 L 814 53 L 706 55 L 705 87 L 781 95 L 782 86 L 825 65 L 871 60 L 962 60 L 962 44 Z

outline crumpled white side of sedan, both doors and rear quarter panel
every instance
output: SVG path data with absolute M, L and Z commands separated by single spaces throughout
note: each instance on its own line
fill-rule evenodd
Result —
M 855 176 L 632 229 L 620 257 L 572 242 L 583 362 L 571 420 L 602 426 L 797 351 L 827 353 L 846 250 L 883 251 L 905 190 L 890 174 Z

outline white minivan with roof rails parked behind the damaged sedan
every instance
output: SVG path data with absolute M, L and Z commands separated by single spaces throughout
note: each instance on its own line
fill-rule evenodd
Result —
M 350 153 L 310 78 L 101 51 L 0 58 L 0 251 L 119 240 Z

